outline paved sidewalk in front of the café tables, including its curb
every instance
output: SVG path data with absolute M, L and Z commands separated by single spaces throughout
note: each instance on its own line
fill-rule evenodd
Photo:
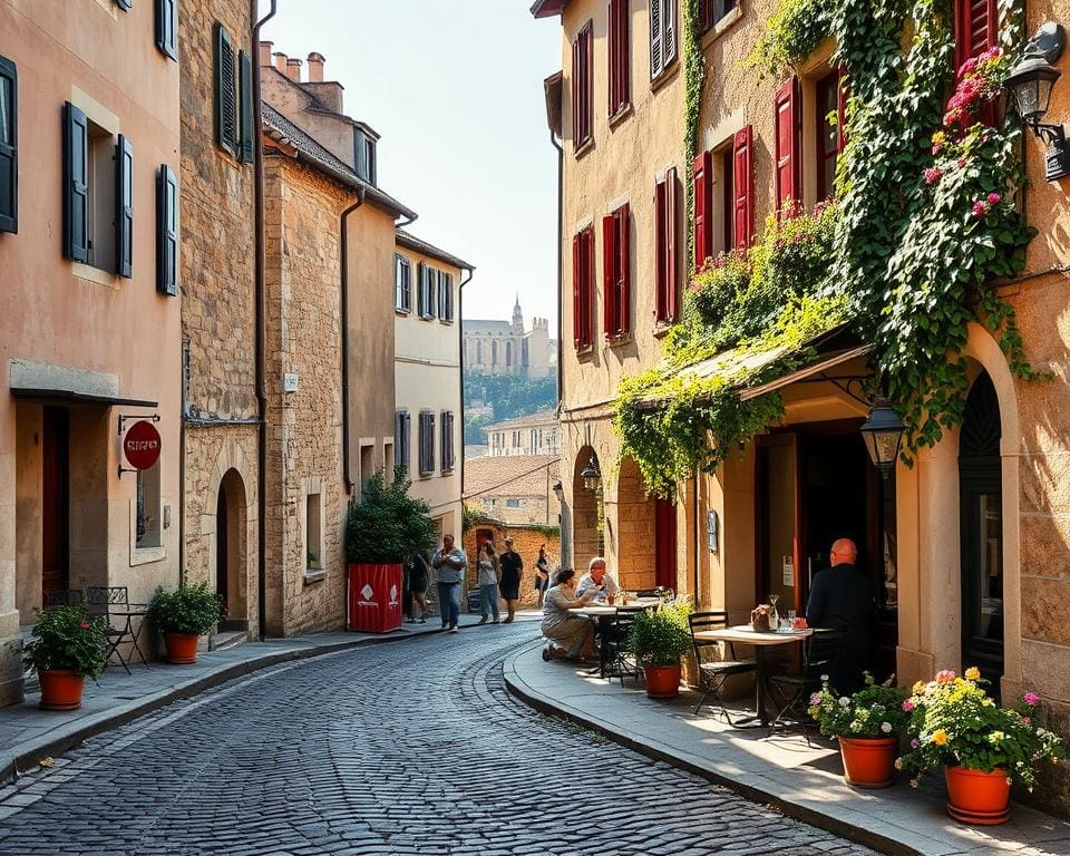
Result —
M 1070 854 L 1070 824 L 1040 811 L 1014 805 L 1003 826 L 962 826 L 944 813 L 941 780 L 913 790 L 899 776 L 889 789 L 855 789 L 844 784 L 838 751 L 820 737 L 811 748 L 798 733 L 767 739 L 765 729 L 736 730 L 710 708 L 694 716 L 694 694 L 648 699 L 631 680 L 621 689 L 619 680 L 611 684 L 568 663 L 543 662 L 541 649 L 506 661 L 515 696 L 836 835 L 889 854 Z

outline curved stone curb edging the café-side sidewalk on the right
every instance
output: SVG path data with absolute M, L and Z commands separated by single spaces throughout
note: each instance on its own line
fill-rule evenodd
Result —
M 542 645 L 543 643 L 539 642 L 538 644 Z M 672 767 L 699 776 L 714 785 L 720 785 L 724 788 L 728 788 L 739 796 L 749 799 L 751 802 L 760 802 L 762 805 L 771 806 L 787 817 L 801 820 L 810 826 L 816 826 L 817 828 L 824 829 L 833 835 L 837 835 L 840 838 L 846 838 L 856 844 L 865 845 L 866 847 L 870 847 L 879 853 L 889 854 L 889 856 L 924 856 L 921 850 L 917 850 L 895 838 L 882 835 L 873 829 L 854 826 L 853 824 L 845 823 L 844 820 L 833 817 L 831 815 L 827 815 L 823 811 L 816 811 L 813 808 L 789 802 L 778 794 L 774 794 L 763 788 L 755 787 L 753 785 L 745 781 L 739 781 L 731 776 L 720 772 L 718 769 L 710 766 L 709 761 L 704 759 L 700 759 L 694 756 L 688 757 L 679 751 L 671 751 L 667 748 L 662 748 L 661 746 L 654 743 L 651 738 L 645 735 L 610 728 L 601 720 L 595 719 L 563 701 L 558 701 L 557 699 L 533 690 L 531 687 L 524 683 L 524 679 L 519 677 L 515 665 L 516 660 L 521 656 L 524 656 L 528 650 L 529 649 L 525 649 L 519 653 L 514 654 L 505 662 L 505 667 L 503 669 L 506 689 L 512 696 L 516 697 L 528 707 L 534 708 L 542 713 L 564 718 L 570 722 L 582 726 L 590 731 L 600 733 L 613 742 L 620 743 L 621 746 L 626 747 L 634 752 L 639 752 L 640 755 L 644 755 L 648 758 L 652 758 L 656 761 L 664 761 Z

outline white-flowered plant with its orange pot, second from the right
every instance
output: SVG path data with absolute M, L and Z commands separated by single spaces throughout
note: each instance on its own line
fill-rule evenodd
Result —
M 899 733 L 909 713 L 903 709 L 906 690 L 892 677 L 884 683 L 865 673 L 865 687 L 850 696 L 839 696 L 828 680 L 810 696 L 809 714 L 825 737 L 839 741 L 844 779 L 858 788 L 886 788 L 895 778 L 895 756 Z

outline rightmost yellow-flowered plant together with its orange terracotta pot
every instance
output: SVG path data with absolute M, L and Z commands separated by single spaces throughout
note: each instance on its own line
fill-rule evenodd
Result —
M 915 683 L 903 702 L 911 714 L 911 751 L 896 766 L 913 774 L 916 787 L 925 770 L 943 765 L 947 814 L 967 824 L 1002 824 L 1010 816 L 1011 785 L 1032 790 L 1038 767 L 1064 757 L 1062 740 L 1042 727 L 1035 693 L 1000 707 L 985 683 L 976 668 L 964 678 L 942 671 Z

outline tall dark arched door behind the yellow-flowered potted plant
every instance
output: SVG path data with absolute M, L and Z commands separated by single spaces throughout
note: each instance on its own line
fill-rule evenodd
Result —
M 1003 677 L 1003 477 L 1000 402 L 982 371 L 966 398 L 959 438 L 962 667 L 999 691 Z

